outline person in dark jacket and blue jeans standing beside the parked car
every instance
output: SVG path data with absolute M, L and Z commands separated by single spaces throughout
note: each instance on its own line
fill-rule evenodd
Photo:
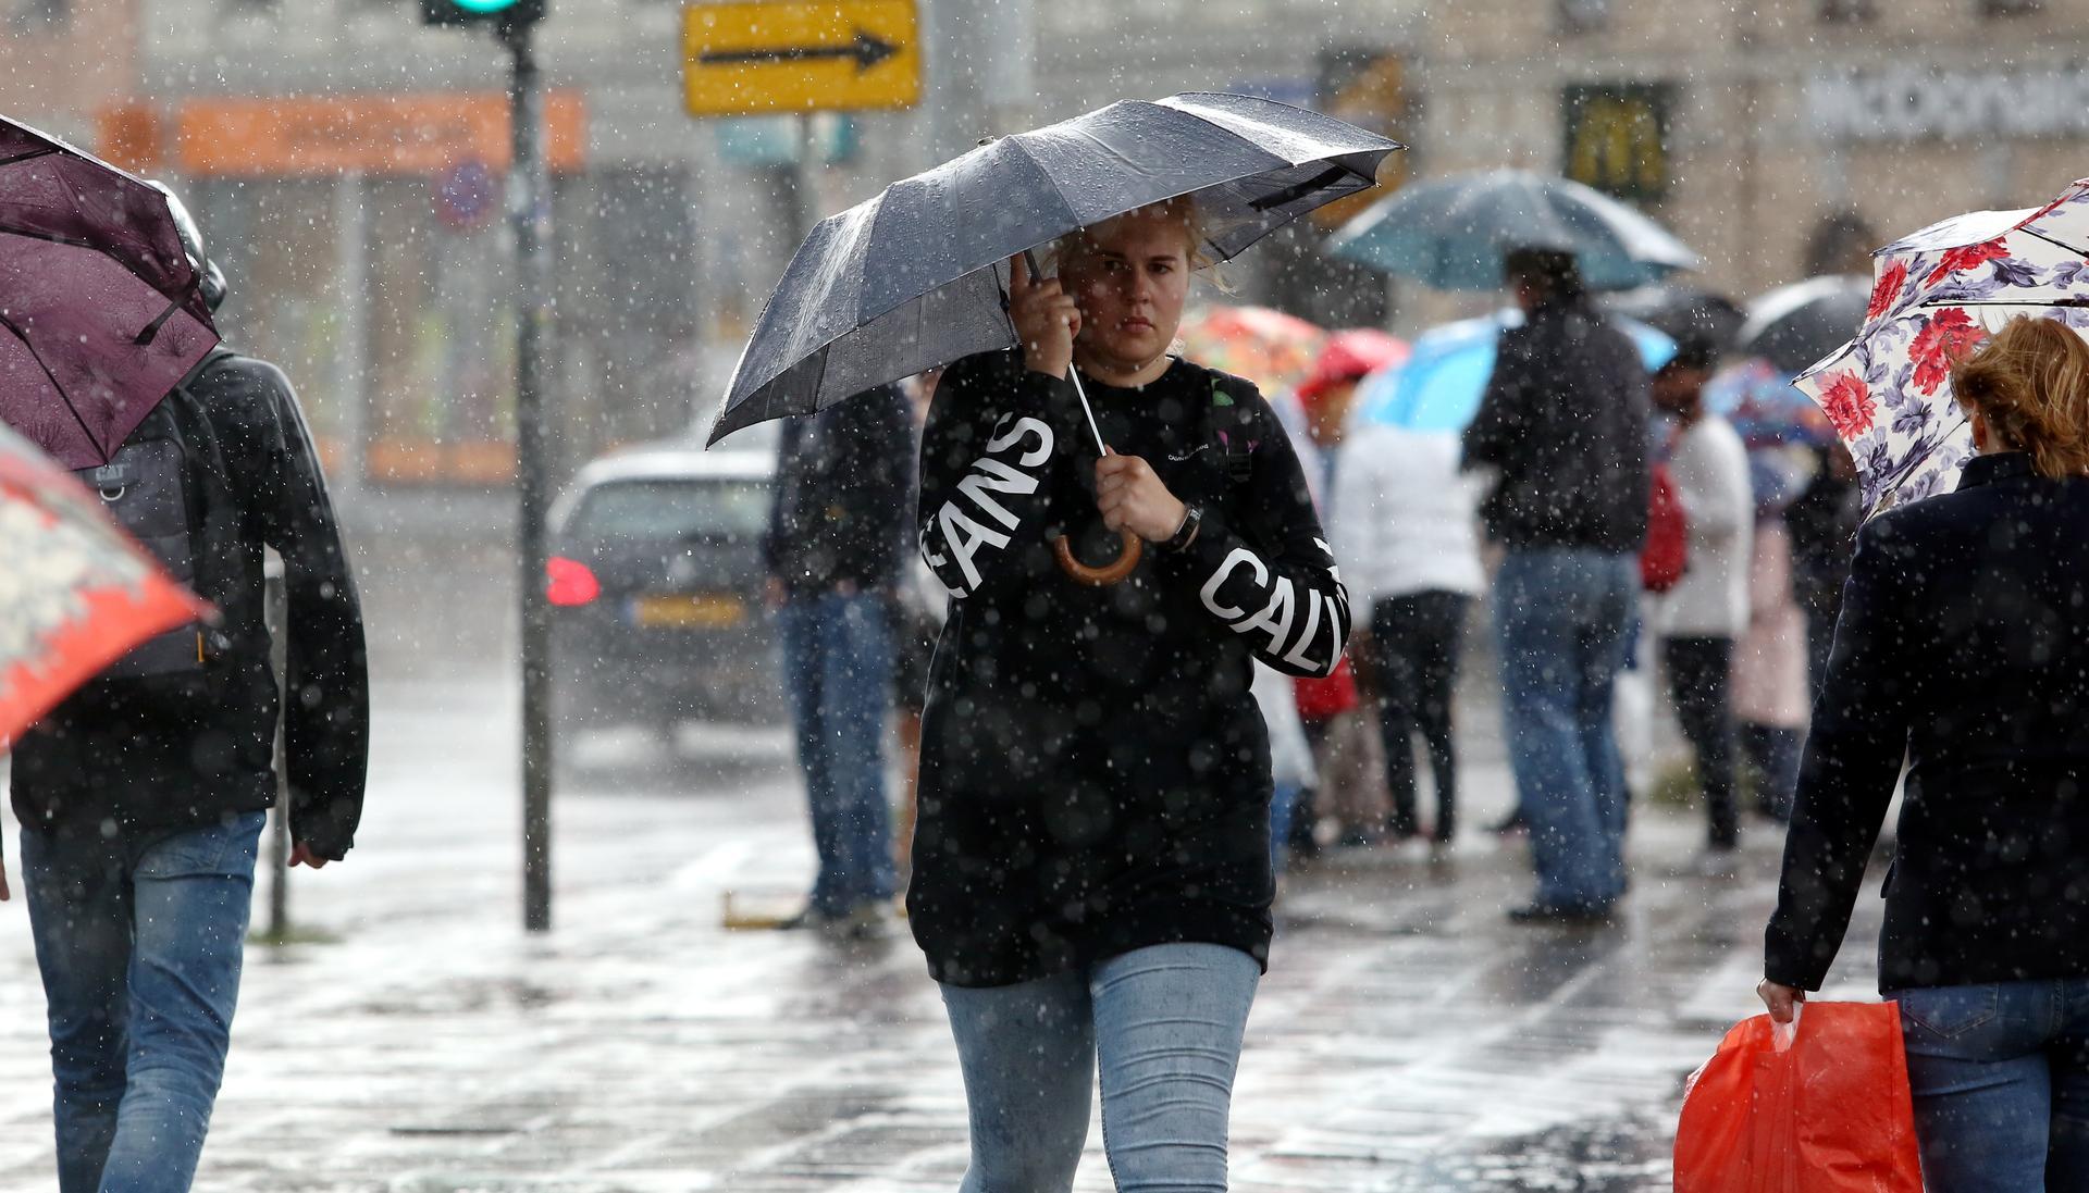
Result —
M 884 735 L 911 478 L 896 387 L 783 424 L 762 552 L 819 850 L 813 896 L 785 928 L 875 932 L 892 900 Z

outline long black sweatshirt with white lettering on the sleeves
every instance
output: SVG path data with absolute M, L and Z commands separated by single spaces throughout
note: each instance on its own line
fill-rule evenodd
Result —
M 1349 604 L 1304 474 L 1255 387 L 1189 361 L 1088 384 L 1103 439 L 1203 510 L 1184 552 L 1107 558 L 1072 384 L 1013 351 L 944 374 L 921 445 L 921 554 L 957 593 L 921 729 L 915 878 L 930 974 L 1005 986 L 1197 940 L 1266 963 L 1270 756 L 1251 660 L 1327 675 Z

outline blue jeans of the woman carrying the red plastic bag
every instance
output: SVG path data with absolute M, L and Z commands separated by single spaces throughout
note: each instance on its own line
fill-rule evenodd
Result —
M 2089 1189 L 2089 978 L 1886 997 L 1930 1193 Z

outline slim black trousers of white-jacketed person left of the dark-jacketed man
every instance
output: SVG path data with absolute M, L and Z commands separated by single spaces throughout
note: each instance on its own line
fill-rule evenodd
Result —
M 1370 606 L 1370 646 L 1377 664 L 1379 733 L 1385 740 L 1385 792 L 1393 836 L 1414 836 L 1414 735 L 1429 748 L 1437 792 L 1435 840 L 1458 827 L 1458 761 L 1452 752 L 1452 692 L 1458 685 L 1458 639 L 1471 598 L 1425 591 Z

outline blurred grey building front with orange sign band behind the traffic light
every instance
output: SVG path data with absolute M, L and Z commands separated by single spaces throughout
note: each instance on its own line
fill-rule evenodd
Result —
M 506 489 L 506 50 L 422 27 L 414 0 L 136 2 L 136 90 L 100 140 L 152 130 L 109 150 L 186 186 L 232 276 L 228 338 L 290 370 L 338 485 Z M 706 345 L 744 332 L 788 253 L 796 138 L 685 115 L 679 4 L 554 0 L 537 42 L 570 468 L 706 414 L 731 366 Z M 829 140 L 884 173 L 909 125 L 865 115 Z

